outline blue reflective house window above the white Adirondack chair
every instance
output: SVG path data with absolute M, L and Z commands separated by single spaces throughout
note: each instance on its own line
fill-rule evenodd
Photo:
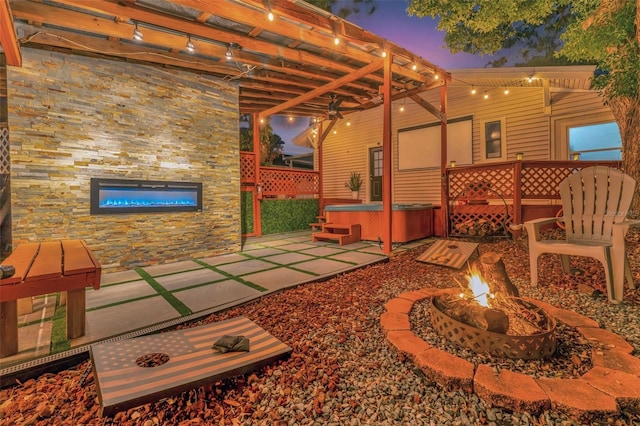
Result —
M 580 160 L 621 160 L 622 139 L 615 121 L 569 127 L 569 158 Z

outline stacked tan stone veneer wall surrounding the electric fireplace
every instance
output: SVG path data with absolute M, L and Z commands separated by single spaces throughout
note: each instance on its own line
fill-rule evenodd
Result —
M 84 239 L 103 270 L 240 250 L 236 83 L 23 49 L 8 70 L 13 245 Z M 203 183 L 203 210 L 90 215 L 90 178 Z

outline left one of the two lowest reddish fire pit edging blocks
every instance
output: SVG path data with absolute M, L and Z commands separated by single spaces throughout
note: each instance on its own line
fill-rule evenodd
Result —
M 540 414 L 551 401 L 533 377 L 509 370 L 495 373 L 489 365 L 479 365 L 473 378 L 475 393 L 490 403 L 509 410 Z

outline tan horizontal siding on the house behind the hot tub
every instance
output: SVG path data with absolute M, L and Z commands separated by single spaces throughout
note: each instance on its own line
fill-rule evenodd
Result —
M 451 119 L 471 116 L 473 119 L 473 163 L 482 160 L 481 124 L 483 121 L 506 120 L 506 160 L 515 158 L 517 152 L 524 154 L 525 160 L 552 160 L 551 121 L 556 117 L 586 112 L 608 112 L 602 98 L 595 92 L 551 92 L 551 113 L 545 113 L 543 88 L 510 88 L 509 94 L 503 88 L 488 91 L 489 99 L 484 99 L 483 90 L 471 95 L 471 87 L 454 86 L 447 91 L 447 117 Z M 431 90 L 421 97 L 435 107 L 440 105 L 440 91 Z M 404 103 L 405 110 L 400 112 Z M 344 197 L 348 190 L 342 183 L 348 171 L 368 173 L 368 147 L 382 142 L 382 107 L 351 114 L 351 126 L 342 123 L 335 126 L 337 134 L 327 136 L 323 144 L 324 196 Z M 394 102 L 392 106 L 392 182 L 393 203 L 433 203 L 440 204 L 440 168 L 399 170 L 398 130 L 437 123 L 437 119 L 407 98 Z M 416 155 L 434 155 L 432 152 Z M 344 175 L 344 176 L 342 176 Z M 368 176 L 368 175 L 367 175 Z M 369 199 L 368 191 L 361 191 L 363 201 Z

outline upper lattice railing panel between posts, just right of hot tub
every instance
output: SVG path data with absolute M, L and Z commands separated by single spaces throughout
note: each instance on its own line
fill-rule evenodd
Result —
M 513 167 L 493 169 L 467 169 L 449 171 L 449 197 L 456 198 L 468 189 L 469 185 L 485 183 L 504 198 L 513 196 Z

